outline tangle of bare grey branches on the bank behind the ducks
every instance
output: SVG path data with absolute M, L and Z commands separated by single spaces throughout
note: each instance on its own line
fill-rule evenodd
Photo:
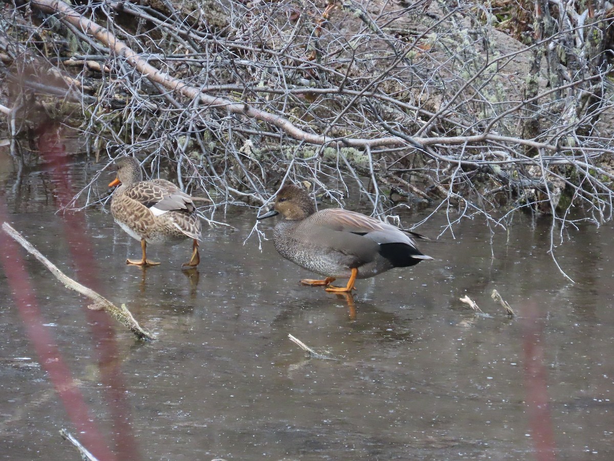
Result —
M 217 205 L 262 205 L 290 178 L 333 202 L 359 192 L 374 213 L 612 218 L 612 11 L 540 0 L 537 30 L 513 33 L 523 44 L 494 10 L 444 0 L 11 5 L 0 70 L 15 117 L 28 94 L 63 98 L 92 149 L 145 152 L 152 175 Z M 49 15 L 33 26 L 28 7 Z M 104 199 L 95 184 L 72 206 Z

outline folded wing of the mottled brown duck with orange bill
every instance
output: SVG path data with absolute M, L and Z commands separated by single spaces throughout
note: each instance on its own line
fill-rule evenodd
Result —
M 155 216 L 162 215 L 166 211 L 194 210 L 192 197 L 166 179 L 131 184 L 126 187 L 123 195 L 149 208 Z

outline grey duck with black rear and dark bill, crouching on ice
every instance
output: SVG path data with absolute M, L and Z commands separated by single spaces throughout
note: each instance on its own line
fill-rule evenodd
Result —
M 282 187 L 273 210 L 257 219 L 278 214 L 284 218 L 273 232 L 279 254 L 326 277 L 301 280 L 305 285 L 324 285 L 326 291 L 350 293 L 357 278 L 433 259 L 422 254 L 409 237 L 421 235 L 341 208 L 316 211 L 308 192 L 293 184 Z M 336 278 L 349 278 L 348 284 L 330 285 Z

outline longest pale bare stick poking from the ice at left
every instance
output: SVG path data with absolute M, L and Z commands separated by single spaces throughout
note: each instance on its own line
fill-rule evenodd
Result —
M 126 308 L 125 304 L 122 304 L 122 307 L 115 306 L 111 301 L 106 299 L 103 296 L 100 296 L 96 291 L 91 290 L 91 288 L 87 288 L 87 286 L 81 285 L 78 282 L 72 280 L 72 278 L 65 275 L 60 269 L 58 269 L 49 259 L 45 258 L 41 254 L 40 251 L 36 250 L 34 246 L 28 242 L 25 238 L 21 236 L 17 230 L 10 226 L 9 223 L 3 223 L 2 229 L 4 232 L 10 235 L 10 237 L 14 238 L 23 248 L 25 248 L 28 253 L 32 254 L 34 258 L 38 259 L 42 262 L 42 264 L 49 269 L 49 271 L 55 275 L 55 278 L 60 280 L 66 286 L 66 288 L 70 288 L 71 290 L 77 291 L 84 296 L 90 298 L 94 304 L 93 307 L 90 306 L 90 309 L 104 309 L 106 310 L 111 317 L 115 318 L 115 320 L 125 325 L 126 328 L 130 329 L 138 339 L 155 339 L 152 334 L 148 333 L 144 329 L 139 326 L 130 311 Z

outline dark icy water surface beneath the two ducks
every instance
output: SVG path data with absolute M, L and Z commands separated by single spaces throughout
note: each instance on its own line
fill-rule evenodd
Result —
M 0 165 L 2 219 L 157 337 L 140 343 L 88 310 L 2 233 L 0 459 L 79 459 L 61 428 L 100 460 L 614 457 L 610 225 L 583 225 L 557 248 L 574 284 L 546 254 L 546 220 L 519 215 L 492 246 L 482 221 L 464 221 L 456 238 L 421 244 L 435 261 L 359 280 L 352 315 L 343 297 L 298 285 L 313 274 L 272 242 L 246 241 L 255 211 L 204 226 L 196 274 L 181 271 L 189 242 L 152 247 L 162 264 L 141 270 L 126 266 L 139 244 L 111 215 L 55 213 L 53 166 L 18 177 L 1 150 Z M 84 167 L 71 166 L 76 188 Z M 435 238 L 446 223 L 419 232 Z M 273 225 L 260 228 L 272 237 Z

